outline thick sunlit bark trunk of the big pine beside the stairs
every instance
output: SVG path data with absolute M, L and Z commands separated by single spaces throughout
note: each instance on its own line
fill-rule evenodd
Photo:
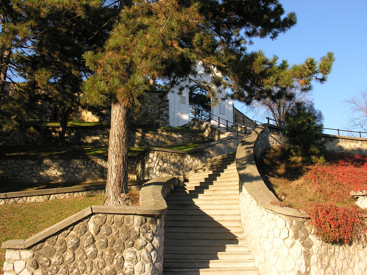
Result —
M 121 205 L 127 190 L 128 108 L 112 103 L 105 205 Z

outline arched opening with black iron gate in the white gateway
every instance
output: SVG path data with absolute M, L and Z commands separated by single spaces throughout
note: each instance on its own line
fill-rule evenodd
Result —
M 210 121 L 211 119 L 211 99 L 207 96 L 207 91 L 200 86 L 189 88 L 189 115 Z

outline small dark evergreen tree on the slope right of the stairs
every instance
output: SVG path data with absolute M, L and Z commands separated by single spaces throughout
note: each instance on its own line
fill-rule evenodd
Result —
M 286 143 L 293 156 L 312 161 L 324 148 L 322 140 L 323 115 L 313 102 L 296 102 L 286 114 Z

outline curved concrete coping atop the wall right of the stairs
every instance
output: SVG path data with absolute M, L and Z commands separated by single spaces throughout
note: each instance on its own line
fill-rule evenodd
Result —
M 262 180 L 254 160 L 254 146 L 258 136 L 269 125 L 260 124 L 241 140 L 236 153 L 236 166 L 240 180 L 248 193 L 261 207 L 273 211 L 278 214 L 306 218 L 309 217 L 303 211 L 299 211 L 289 207 L 280 207 L 272 205 L 271 202 L 279 201 L 275 195 L 269 190 Z

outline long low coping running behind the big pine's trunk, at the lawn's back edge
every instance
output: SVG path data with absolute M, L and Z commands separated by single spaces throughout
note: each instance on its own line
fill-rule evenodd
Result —
M 146 181 L 148 180 L 128 181 L 127 185 L 128 186 L 139 185 L 139 184 L 146 183 Z M 96 184 L 78 185 L 78 186 L 72 186 L 72 187 L 50 188 L 50 189 L 41 189 L 41 190 L 7 192 L 7 193 L 0 193 L 0 199 L 52 195 L 52 194 L 80 192 L 80 191 L 87 191 L 87 190 L 98 190 L 98 189 L 104 189 L 104 188 L 106 188 L 106 183 L 96 183 Z

